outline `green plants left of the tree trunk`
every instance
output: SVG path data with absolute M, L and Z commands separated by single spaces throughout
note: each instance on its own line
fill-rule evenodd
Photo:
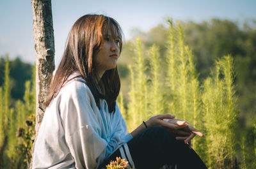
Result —
M 0 87 L 0 168 L 27 168 L 35 136 L 35 82 L 32 87 L 26 82 L 24 101 L 17 100 L 12 107 L 9 63 L 6 55 L 4 86 Z

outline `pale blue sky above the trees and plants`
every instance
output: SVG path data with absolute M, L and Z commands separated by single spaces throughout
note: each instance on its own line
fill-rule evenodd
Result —
M 52 0 L 55 64 L 60 62 L 72 24 L 86 13 L 115 18 L 129 40 L 132 29 L 148 31 L 164 23 L 166 17 L 193 22 L 227 18 L 242 23 L 256 20 L 255 9 L 253 0 Z M 0 0 L 0 23 L 0 57 L 8 53 L 11 60 L 19 56 L 22 61 L 34 63 L 31 1 Z

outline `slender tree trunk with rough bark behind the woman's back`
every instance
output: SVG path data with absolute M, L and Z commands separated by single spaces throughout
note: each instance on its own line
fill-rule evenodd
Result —
M 45 112 L 45 99 L 49 93 L 54 71 L 54 34 L 51 0 L 31 0 L 36 50 L 36 136 Z M 35 140 L 36 142 L 36 140 Z M 34 142 L 34 143 L 35 143 Z M 33 149 L 32 148 L 32 154 Z M 33 159 L 33 156 L 32 156 Z M 32 160 L 31 160 L 32 163 Z M 31 168 L 32 165 L 29 166 Z

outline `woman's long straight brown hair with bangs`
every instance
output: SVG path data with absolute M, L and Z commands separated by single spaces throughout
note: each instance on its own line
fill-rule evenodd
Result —
M 106 71 L 99 81 L 94 61 L 95 53 L 104 45 L 103 35 L 108 33 L 108 29 L 120 38 L 119 47 L 121 52 L 123 33 L 113 18 L 104 15 L 84 15 L 74 23 L 68 34 L 60 65 L 54 78 L 52 78 L 50 92 L 45 102 L 46 107 L 60 92 L 68 77 L 72 73 L 78 72 L 77 77 L 86 81 L 86 85 L 92 91 L 97 107 L 100 108 L 100 99 L 106 99 L 109 112 L 115 112 L 116 98 L 120 91 L 117 67 Z

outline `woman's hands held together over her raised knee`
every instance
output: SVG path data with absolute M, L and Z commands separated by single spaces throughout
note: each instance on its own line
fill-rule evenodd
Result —
M 182 140 L 184 143 L 188 143 L 189 148 L 191 148 L 191 140 L 196 135 L 204 136 L 203 133 L 193 128 L 188 122 L 174 118 L 175 115 L 159 114 L 150 117 L 146 123 L 148 126 L 161 126 L 165 128 L 176 140 Z

